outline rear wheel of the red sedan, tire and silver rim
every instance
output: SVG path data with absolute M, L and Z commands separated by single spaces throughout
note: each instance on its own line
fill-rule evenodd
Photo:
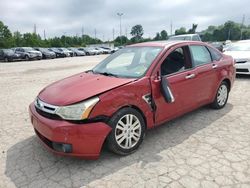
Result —
M 223 81 L 216 92 L 216 96 L 213 103 L 211 104 L 211 107 L 214 109 L 223 108 L 227 104 L 228 95 L 229 95 L 229 86 L 225 81 Z

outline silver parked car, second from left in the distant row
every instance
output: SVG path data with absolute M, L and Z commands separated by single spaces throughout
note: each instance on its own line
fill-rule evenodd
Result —
M 25 60 L 41 60 L 42 53 L 31 47 L 18 47 L 14 48 L 15 53 L 19 54 Z

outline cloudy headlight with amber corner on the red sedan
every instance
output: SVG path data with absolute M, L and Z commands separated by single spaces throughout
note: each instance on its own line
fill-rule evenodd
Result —
M 55 114 L 66 120 L 83 120 L 88 118 L 92 108 L 99 101 L 98 97 L 74 105 L 58 107 Z

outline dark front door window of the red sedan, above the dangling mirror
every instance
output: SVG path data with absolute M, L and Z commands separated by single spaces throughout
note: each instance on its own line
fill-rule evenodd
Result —
M 171 52 L 161 65 L 161 75 L 169 75 L 188 69 L 183 48 L 177 48 Z

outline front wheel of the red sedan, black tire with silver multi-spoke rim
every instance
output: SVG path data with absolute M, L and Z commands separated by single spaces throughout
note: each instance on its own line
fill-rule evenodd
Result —
M 107 137 L 109 150 L 119 155 L 133 153 L 141 145 L 145 134 L 144 119 L 137 110 L 123 108 L 109 121 L 112 127 Z

